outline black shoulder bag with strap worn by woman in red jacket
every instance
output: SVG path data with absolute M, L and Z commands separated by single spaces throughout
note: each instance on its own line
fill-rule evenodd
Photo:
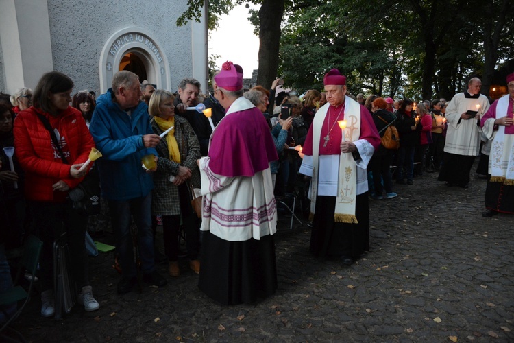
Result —
M 37 115 L 43 123 L 43 126 L 50 132 L 53 145 L 55 145 L 59 151 L 62 162 L 66 165 L 69 164 L 57 140 L 56 132 L 53 132 L 48 119 L 40 113 L 37 113 Z M 93 165 L 93 168 L 84 176 L 82 182 L 80 182 L 77 187 L 68 191 L 68 196 L 73 209 L 76 209 L 78 213 L 82 215 L 95 215 L 101 211 L 100 192 L 100 178 L 95 165 Z

